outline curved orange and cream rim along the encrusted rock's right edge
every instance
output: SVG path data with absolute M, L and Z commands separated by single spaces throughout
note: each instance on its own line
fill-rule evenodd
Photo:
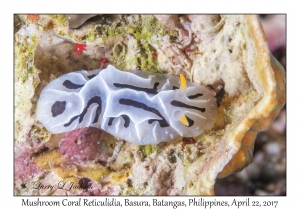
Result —
M 218 174 L 223 178 L 241 171 L 252 159 L 255 138 L 258 132 L 267 129 L 285 104 L 285 71 L 269 52 L 262 26 L 257 17 L 246 16 L 249 36 L 254 40 L 257 54 L 255 70 L 263 97 L 255 108 L 240 122 L 241 128 L 232 140 L 241 144 L 240 149 Z

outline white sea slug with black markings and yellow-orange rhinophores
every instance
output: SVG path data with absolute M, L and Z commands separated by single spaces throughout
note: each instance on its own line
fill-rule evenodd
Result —
M 109 65 L 51 81 L 36 114 L 54 134 L 92 126 L 145 145 L 200 135 L 213 127 L 217 104 L 208 89 L 183 75 L 125 72 Z

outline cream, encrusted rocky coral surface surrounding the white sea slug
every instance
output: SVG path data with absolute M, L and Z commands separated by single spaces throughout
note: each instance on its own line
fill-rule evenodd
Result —
M 251 162 L 257 133 L 285 104 L 285 72 L 270 54 L 256 15 L 101 15 L 80 22 L 79 29 L 70 29 L 63 15 L 17 20 L 22 27 L 15 33 L 15 153 L 28 154 L 27 164 L 37 170 L 23 177 L 22 167 L 15 168 L 16 194 L 66 193 L 22 187 L 30 180 L 88 180 L 94 188 L 67 194 L 213 195 L 217 178 Z M 80 55 L 76 43 L 86 44 Z M 95 129 L 59 135 L 45 130 L 35 116 L 41 89 L 68 72 L 97 69 L 104 58 L 105 65 L 126 71 L 183 74 L 205 86 L 217 98 L 213 128 L 143 146 Z

